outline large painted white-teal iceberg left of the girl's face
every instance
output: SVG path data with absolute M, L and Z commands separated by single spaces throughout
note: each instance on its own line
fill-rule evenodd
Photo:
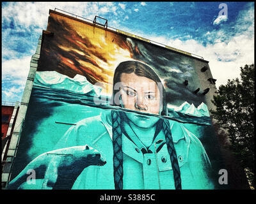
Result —
M 102 91 L 102 88 L 92 85 L 82 75 L 76 75 L 74 78 L 70 78 L 57 71 L 36 71 L 34 84 L 51 89 L 75 92 L 77 94 L 90 94 L 91 96 L 100 96 L 100 92 Z

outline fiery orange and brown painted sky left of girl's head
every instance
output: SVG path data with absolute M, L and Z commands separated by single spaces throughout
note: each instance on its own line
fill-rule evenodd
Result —
M 54 13 L 49 17 L 47 30 L 54 33 L 54 39 L 47 38 L 49 43 L 42 48 L 42 55 L 57 59 L 58 64 L 52 69 L 62 74 L 67 73 L 69 77 L 74 77 L 76 74 L 83 75 L 92 84 L 100 82 L 103 88 L 102 94 L 112 91 L 116 66 L 122 61 L 133 59 L 129 41 L 120 34 Z M 136 52 L 140 54 L 138 48 Z M 42 62 L 42 66 L 49 65 Z

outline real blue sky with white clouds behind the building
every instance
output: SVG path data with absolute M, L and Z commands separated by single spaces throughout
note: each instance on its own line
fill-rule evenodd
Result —
M 221 3 L 227 13 L 219 12 Z M 216 86 L 254 63 L 253 2 L 2 2 L 2 101 L 21 101 L 49 10 L 58 8 L 209 61 Z M 227 14 L 227 15 L 224 15 Z

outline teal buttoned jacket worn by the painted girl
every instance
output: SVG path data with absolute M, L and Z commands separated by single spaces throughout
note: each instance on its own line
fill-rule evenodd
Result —
M 170 128 L 180 166 L 182 189 L 214 189 L 209 179 L 211 163 L 200 140 L 178 122 L 170 120 Z M 163 142 L 156 144 L 159 140 Z M 157 135 L 149 147 L 153 153 L 143 154 L 140 143 L 122 136 L 124 189 L 175 189 L 170 155 L 164 142 L 164 135 Z M 68 129 L 55 149 L 86 144 L 98 150 L 107 163 L 85 168 L 72 189 L 115 189 L 112 125 L 108 112 L 77 122 L 76 126 Z M 156 153 L 156 149 L 160 150 Z

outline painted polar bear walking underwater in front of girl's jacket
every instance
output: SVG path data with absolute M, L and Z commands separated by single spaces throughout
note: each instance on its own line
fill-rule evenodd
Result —
M 8 189 L 18 189 L 26 182 L 28 170 L 35 171 L 35 179 L 44 179 L 42 189 L 71 189 L 84 168 L 104 164 L 100 152 L 88 145 L 52 150 L 33 159 L 8 184 Z

